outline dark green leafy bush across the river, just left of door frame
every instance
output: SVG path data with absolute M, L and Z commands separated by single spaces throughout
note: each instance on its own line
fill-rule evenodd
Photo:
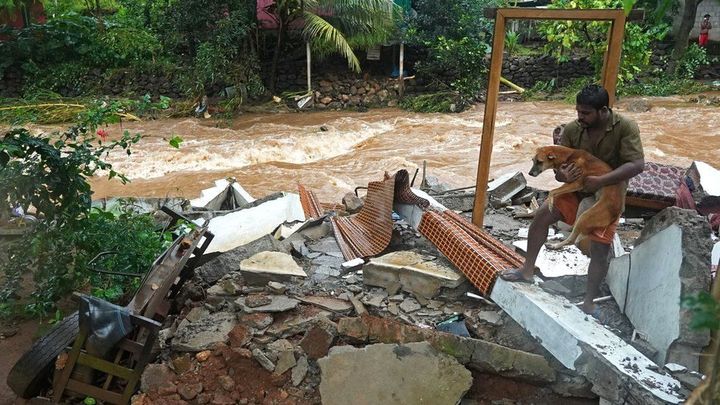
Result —
M 463 99 L 477 97 L 486 81 L 485 56 L 490 50 L 492 22 L 484 9 L 493 1 L 418 0 L 406 38 L 427 55 L 415 65 L 419 76 L 457 91 Z

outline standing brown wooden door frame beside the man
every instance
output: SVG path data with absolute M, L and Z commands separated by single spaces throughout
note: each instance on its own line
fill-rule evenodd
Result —
M 492 157 L 493 133 L 495 131 L 495 115 L 500 92 L 500 74 L 502 73 L 503 48 L 505 46 L 505 23 L 507 20 L 582 20 L 610 21 L 608 32 L 608 50 L 605 52 L 602 70 L 602 85 L 610 95 L 610 106 L 615 102 L 617 75 L 620 69 L 620 54 L 625 34 L 625 22 L 642 20 L 643 10 L 633 10 L 626 16 L 620 9 L 586 9 L 561 10 L 547 8 L 491 8 L 485 10 L 485 17 L 495 19 L 492 54 L 490 57 L 490 73 L 488 75 L 485 115 L 483 117 L 480 157 L 478 159 L 475 203 L 473 206 L 473 223 L 482 228 L 485 217 L 487 184 L 490 175 L 490 159 Z

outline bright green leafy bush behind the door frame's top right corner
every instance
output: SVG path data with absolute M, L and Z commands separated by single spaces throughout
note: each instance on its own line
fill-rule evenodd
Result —
M 620 0 L 556 0 L 552 8 L 606 9 L 624 6 Z M 629 3 L 628 3 L 629 4 Z M 547 39 L 546 51 L 559 61 L 567 61 L 573 54 L 587 55 L 597 74 L 603 65 L 603 55 L 607 48 L 608 22 L 552 21 L 539 25 L 539 32 Z M 664 23 L 647 27 L 628 23 L 625 26 L 622 59 L 618 80 L 620 83 L 635 78 L 648 66 L 652 54 L 652 41 L 662 39 L 669 26 Z

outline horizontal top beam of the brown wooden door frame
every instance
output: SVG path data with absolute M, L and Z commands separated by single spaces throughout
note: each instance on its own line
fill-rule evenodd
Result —
M 485 18 L 495 18 L 501 13 L 503 17 L 513 20 L 585 20 L 585 21 L 612 21 L 622 17 L 622 9 L 550 9 L 534 7 L 517 8 L 486 8 Z M 626 21 L 642 21 L 645 10 L 630 11 Z

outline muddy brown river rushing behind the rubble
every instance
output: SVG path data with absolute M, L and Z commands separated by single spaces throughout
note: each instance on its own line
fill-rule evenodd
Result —
M 720 108 L 692 104 L 688 98 L 648 98 L 652 109 L 642 113 L 629 112 L 637 99 L 626 99 L 615 110 L 638 122 L 646 160 L 683 167 L 702 160 L 720 167 Z M 297 183 L 303 183 L 322 201 L 334 202 L 381 179 L 384 171 L 404 168 L 412 176 L 423 161 L 429 175 L 452 186 L 469 186 L 475 182 L 483 108 L 477 105 L 461 114 L 380 109 L 125 123 L 123 129 L 146 137 L 131 156 L 116 153 L 108 159 L 132 182 L 94 179 L 94 197 L 193 198 L 215 179 L 234 177 L 255 197 L 296 191 Z M 491 176 L 510 170 L 527 173 L 535 148 L 551 144 L 553 128 L 574 118 L 574 105 L 562 102 L 501 103 Z M 112 136 L 121 129 L 111 126 L 108 131 Z M 168 144 L 174 135 L 183 139 L 180 149 Z M 555 184 L 549 173 L 529 178 L 529 183 Z

